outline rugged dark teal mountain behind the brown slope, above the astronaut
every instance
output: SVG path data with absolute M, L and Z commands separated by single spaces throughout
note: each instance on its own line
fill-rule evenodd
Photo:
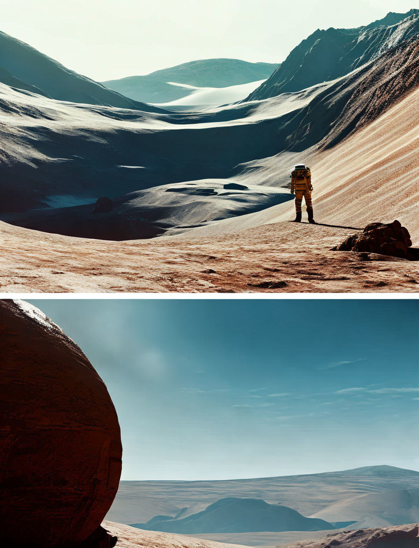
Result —
M 358 28 L 313 32 L 288 55 L 277 70 L 246 100 L 260 100 L 284 92 L 297 92 L 346 75 L 355 68 L 419 33 L 419 10 L 389 13 Z

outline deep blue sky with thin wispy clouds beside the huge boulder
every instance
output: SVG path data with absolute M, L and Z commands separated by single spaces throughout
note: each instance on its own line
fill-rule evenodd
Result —
M 31 300 L 116 406 L 123 479 L 419 470 L 417 300 Z

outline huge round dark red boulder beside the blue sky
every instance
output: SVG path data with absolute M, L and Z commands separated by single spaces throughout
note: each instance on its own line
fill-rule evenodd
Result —
M 76 546 L 116 495 L 122 446 L 106 386 L 40 310 L 0 301 L 2 546 Z

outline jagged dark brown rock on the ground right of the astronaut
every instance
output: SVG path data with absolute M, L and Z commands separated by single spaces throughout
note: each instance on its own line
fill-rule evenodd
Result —
M 396 220 L 388 224 L 371 222 L 366 225 L 363 232 L 348 236 L 345 242 L 332 249 L 334 251 L 378 253 L 401 259 L 417 260 L 416 253 L 410 249 L 411 245 L 409 232 Z

